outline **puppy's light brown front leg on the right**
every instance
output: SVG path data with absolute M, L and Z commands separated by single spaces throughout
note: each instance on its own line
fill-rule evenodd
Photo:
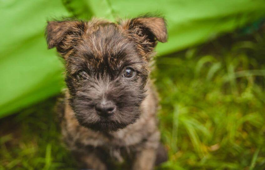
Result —
M 152 170 L 156 159 L 156 149 L 144 148 L 136 153 L 133 170 Z

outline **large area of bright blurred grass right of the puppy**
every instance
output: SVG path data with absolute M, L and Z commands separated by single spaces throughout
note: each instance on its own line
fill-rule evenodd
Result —
M 169 169 L 265 169 L 265 36 L 230 34 L 157 58 Z

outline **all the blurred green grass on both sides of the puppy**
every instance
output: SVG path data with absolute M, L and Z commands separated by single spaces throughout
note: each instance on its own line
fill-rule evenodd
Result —
M 156 58 L 169 161 L 159 169 L 265 169 L 265 30 Z M 0 169 L 75 169 L 56 98 L 0 120 Z

